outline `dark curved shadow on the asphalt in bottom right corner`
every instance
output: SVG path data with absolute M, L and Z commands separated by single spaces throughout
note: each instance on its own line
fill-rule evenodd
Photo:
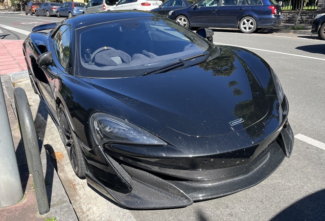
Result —
M 274 216 L 271 221 L 325 220 L 325 189 L 306 196 Z

